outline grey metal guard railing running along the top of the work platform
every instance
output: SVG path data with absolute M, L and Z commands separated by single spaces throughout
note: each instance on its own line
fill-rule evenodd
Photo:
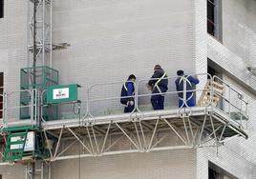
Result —
M 201 107 L 204 107 L 206 109 L 209 106 L 214 106 L 213 100 L 216 96 L 218 96 L 220 98 L 220 102 L 218 103 L 216 108 L 223 110 L 224 113 L 228 114 L 231 119 L 239 121 L 239 125 L 242 125 L 242 120 L 247 119 L 248 105 L 248 102 L 244 99 L 243 93 L 233 88 L 231 85 L 224 82 L 221 78 L 217 76 L 212 77 L 207 73 L 196 75 L 200 79 L 200 84 L 197 85 L 194 89 L 186 90 L 186 83 L 184 83 L 182 91 L 177 91 L 175 87 L 175 80 L 178 78 L 178 76 L 170 76 L 166 78 L 169 81 L 169 89 L 166 92 L 162 93 L 152 93 L 145 87 L 149 79 L 141 79 L 137 82 L 133 82 L 135 87 L 135 94 L 128 97 L 134 98 L 135 108 L 133 109 L 133 111 L 128 112 L 127 116 L 129 116 L 131 119 L 134 113 L 138 113 L 143 116 L 145 112 L 153 110 L 149 98 L 159 94 L 165 96 L 165 109 L 178 109 L 178 114 L 181 112 L 182 109 L 185 109 L 188 111 L 188 113 L 191 113 L 191 107 L 189 107 L 189 105 L 187 104 L 186 99 L 187 92 L 193 93 L 193 95 L 195 95 L 197 99 L 200 99 L 200 96 L 204 93 L 207 94 L 206 103 L 204 103 L 204 105 Z M 185 76 L 183 80 L 187 81 L 188 76 Z M 205 86 L 207 80 L 210 81 L 209 86 Z M 213 82 L 223 85 L 224 92 L 216 92 L 212 85 Z M 89 89 L 81 88 L 82 92 L 78 92 L 78 95 L 80 95 L 78 96 L 78 99 L 81 99 L 81 101 L 76 104 L 57 104 L 57 117 L 55 119 L 79 118 L 83 122 L 87 122 L 87 120 L 90 121 L 92 119 L 93 121 L 95 121 L 96 117 L 104 118 L 104 116 L 123 113 L 124 106 L 120 104 L 120 99 L 126 98 L 127 96 L 120 97 L 120 90 L 124 83 L 125 82 L 101 83 L 92 85 Z M 28 95 L 29 102 L 27 105 L 21 105 L 19 97 L 16 96 L 21 92 L 26 92 Z M 183 103 L 181 108 L 178 107 L 178 93 L 182 93 L 183 96 L 182 99 L 180 98 Z M 30 124 L 32 125 L 39 124 L 41 121 L 47 121 L 47 119 L 44 118 L 44 108 L 53 108 L 53 106 L 45 104 L 45 102 L 43 102 L 45 101 L 45 94 L 46 90 L 39 92 L 36 89 L 17 90 L 9 93 L 4 92 L 2 94 L 4 99 L 4 128 L 7 128 L 9 126 L 8 124 L 11 119 L 11 114 L 18 114 L 17 110 L 19 109 L 27 108 L 30 111 Z M 11 104 L 11 101 L 14 101 L 15 105 Z M 64 107 L 65 105 L 66 107 Z M 63 117 L 64 115 L 62 112 L 72 112 L 74 115 L 70 115 L 70 117 Z

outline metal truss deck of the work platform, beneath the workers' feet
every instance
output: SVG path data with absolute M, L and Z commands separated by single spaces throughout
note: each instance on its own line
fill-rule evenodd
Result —
M 10 122 L 9 127 L 26 123 L 29 121 Z M 45 136 L 54 141 L 50 161 L 193 149 L 208 144 L 223 145 L 225 139 L 234 136 L 248 137 L 239 122 L 213 106 L 54 120 L 43 122 L 42 128 Z

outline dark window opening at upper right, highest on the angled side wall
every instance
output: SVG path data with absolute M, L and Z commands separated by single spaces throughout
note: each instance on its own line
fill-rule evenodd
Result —
M 222 0 L 207 1 L 207 32 L 222 41 Z

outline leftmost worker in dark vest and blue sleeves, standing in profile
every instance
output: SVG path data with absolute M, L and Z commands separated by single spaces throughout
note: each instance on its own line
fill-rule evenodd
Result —
M 124 112 L 132 112 L 135 109 L 135 81 L 136 76 L 131 74 L 121 89 L 120 103 L 124 105 Z

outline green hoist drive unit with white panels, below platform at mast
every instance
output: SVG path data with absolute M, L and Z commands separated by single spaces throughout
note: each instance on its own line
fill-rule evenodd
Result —
M 21 126 L 3 129 L 7 141 L 4 162 L 32 161 L 49 157 L 43 132 L 35 126 Z

